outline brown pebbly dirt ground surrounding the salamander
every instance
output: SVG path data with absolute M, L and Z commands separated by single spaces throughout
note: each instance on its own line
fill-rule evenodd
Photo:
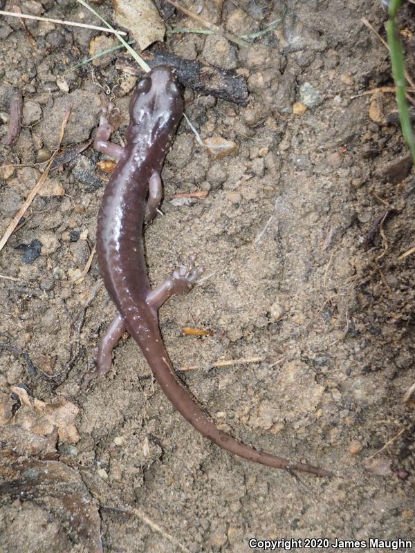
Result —
M 97 24 L 69 0 L 18 3 L 68 20 L 82 12 Z M 112 21 L 109 2 L 99 10 Z M 414 15 L 407 4 L 400 20 L 408 55 Z M 403 403 L 415 380 L 415 254 L 400 259 L 414 246 L 415 180 L 402 161 L 393 95 L 362 95 L 391 86 L 387 50 L 362 22 L 385 37 L 385 9 L 374 0 L 205 0 L 201 16 L 234 35 L 282 22 L 249 48 L 209 35 L 167 37 L 176 55 L 236 69 L 250 94 L 238 106 L 185 93 L 201 138 L 238 147 L 215 160 L 181 123 L 163 169 L 164 216 L 145 231 L 149 274 L 160 283 L 169 261 L 196 253 L 211 276 L 169 301 L 160 327 L 174 366 L 196 367 L 181 379 L 221 428 L 335 476 L 295 477 L 202 438 L 127 337 L 109 374 L 81 388 L 114 315 L 96 257 L 76 281 L 108 178 L 97 165 L 104 156 L 88 147 L 50 173 L 0 253 L 1 552 L 100 551 L 99 525 L 111 553 L 246 553 L 249 538 L 415 540 L 414 403 Z M 168 24 L 199 26 L 179 14 Z M 0 169 L 1 234 L 39 179 L 44 163 L 36 164 L 57 146 L 68 106 L 63 147 L 73 150 L 93 135 L 108 86 L 120 142 L 133 86 L 116 54 L 68 72 L 100 32 L 27 28 L 33 39 L 19 19 L 0 20 L 1 162 L 20 164 Z M 97 44 L 116 41 L 102 35 Z M 16 89 L 24 126 L 8 148 Z M 208 195 L 172 201 L 194 191 Z M 183 336 L 185 326 L 212 335 Z M 246 362 L 214 366 L 230 359 Z M 62 427 L 75 427 L 30 449 L 29 431 L 37 440 L 55 432 L 53 424 L 36 431 L 30 417 L 56 402 L 73 415 Z

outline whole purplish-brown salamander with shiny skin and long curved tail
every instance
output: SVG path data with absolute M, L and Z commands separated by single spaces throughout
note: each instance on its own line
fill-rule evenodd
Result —
M 173 294 L 188 292 L 199 272 L 191 259 L 188 268 L 178 268 L 151 290 L 143 243 L 144 223 L 155 216 L 162 197 L 160 171 L 183 115 L 183 97 L 169 68 L 156 67 L 138 82 L 129 115 L 126 147 L 108 142 L 112 129 L 107 111 L 102 113 L 95 136 L 95 149 L 118 158 L 102 198 L 97 232 L 100 272 L 118 314 L 102 337 L 97 370 L 84 384 L 109 371 L 112 349 L 127 330 L 165 395 L 206 438 L 230 453 L 269 467 L 331 476 L 324 469 L 256 451 L 219 430 L 176 378 L 160 335 L 158 308 Z

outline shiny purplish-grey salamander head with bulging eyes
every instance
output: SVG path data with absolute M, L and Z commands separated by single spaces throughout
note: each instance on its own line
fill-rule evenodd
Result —
M 143 133 L 176 131 L 183 115 L 183 96 L 172 69 L 154 67 L 136 84 L 129 104 L 127 140 L 137 142 Z

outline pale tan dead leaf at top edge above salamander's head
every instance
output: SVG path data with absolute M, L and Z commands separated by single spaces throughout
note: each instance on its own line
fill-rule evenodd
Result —
M 163 41 L 165 24 L 152 0 L 114 0 L 116 22 L 131 32 L 141 50 Z

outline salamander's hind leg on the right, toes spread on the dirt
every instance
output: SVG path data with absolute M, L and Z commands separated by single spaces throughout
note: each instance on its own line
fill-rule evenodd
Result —
M 147 303 L 151 308 L 158 311 L 173 294 L 187 294 L 192 289 L 194 282 L 203 272 L 203 268 L 194 267 L 195 259 L 195 256 L 191 256 L 188 267 L 180 265 L 156 290 L 151 290 L 147 294 Z M 174 266 L 172 263 L 170 265 Z

